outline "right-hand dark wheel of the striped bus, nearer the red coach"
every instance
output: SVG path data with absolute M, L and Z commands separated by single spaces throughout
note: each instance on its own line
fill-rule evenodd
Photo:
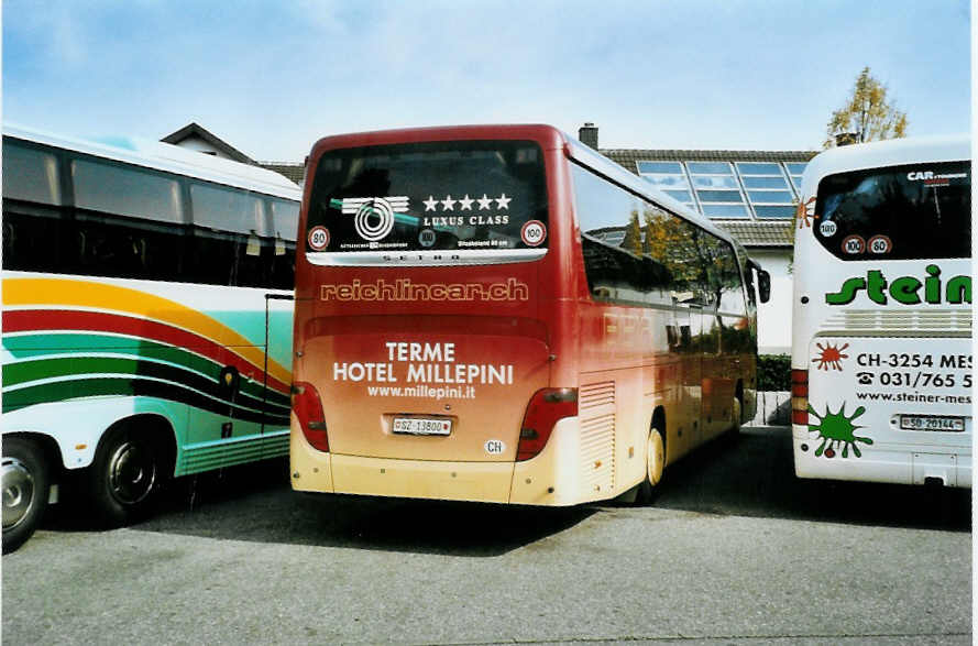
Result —
M 89 471 L 96 513 L 109 525 L 140 519 L 163 482 L 161 451 L 151 429 L 127 425 L 99 445 Z

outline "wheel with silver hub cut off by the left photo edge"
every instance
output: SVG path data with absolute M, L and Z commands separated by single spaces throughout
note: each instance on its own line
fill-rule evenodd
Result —
M 44 453 L 33 441 L 3 438 L 3 554 L 34 534 L 47 507 L 51 474 Z

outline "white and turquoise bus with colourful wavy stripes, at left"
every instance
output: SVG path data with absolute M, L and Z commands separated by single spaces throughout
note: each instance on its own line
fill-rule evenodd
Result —
M 136 140 L 3 129 L 3 550 L 70 483 L 110 524 L 288 450 L 298 186 Z

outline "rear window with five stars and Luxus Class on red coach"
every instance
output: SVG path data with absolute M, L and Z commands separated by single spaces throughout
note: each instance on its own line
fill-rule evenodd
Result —
M 474 264 L 546 253 L 546 177 L 534 142 L 328 151 L 311 180 L 305 249 L 315 264 Z

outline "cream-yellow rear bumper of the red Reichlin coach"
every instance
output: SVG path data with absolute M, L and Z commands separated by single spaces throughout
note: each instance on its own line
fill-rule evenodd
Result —
M 295 491 L 547 506 L 574 505 L 619 493 L 583 491 L 575 417 L 558 421 L 540 455 L 524 462 L 397 460 L 323 453 L 295 431 L 289 455 Z

